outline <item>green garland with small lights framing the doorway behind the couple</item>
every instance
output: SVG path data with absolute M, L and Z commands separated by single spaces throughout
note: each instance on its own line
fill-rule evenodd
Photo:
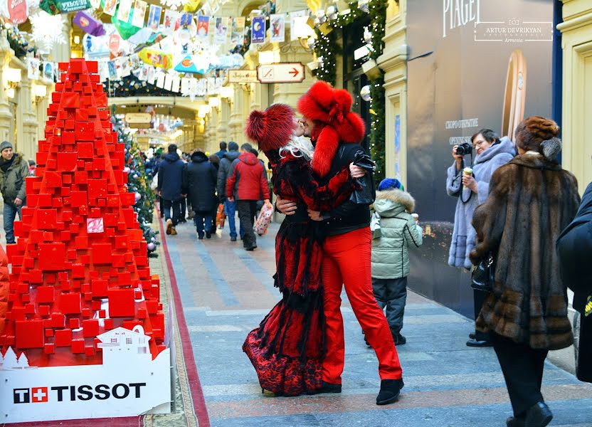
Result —
M 370 58 L 376 60 L 382 55 L 384 49 L 384 31 L 386 26 L 386 8 L 388 2 L 384 0 L 370 0 L 369 14 L 371 17 L 372 48 L 374 52 Z M 360 16 L 364 16 L 364 11 L 358 9 L 357 1 L 349 3 L 349 14 L 339 15 L 337 19 L 327 21 L 327 26 L 333 31 L 324 35 L 319 26 L 315 29 L 317 33 L 317 43 L 314 45 L 314 53 L 317 58 L 322 57 L 322 64 L 314 70 L 314 76 L 319 80 L 324 80 L 335 85 L 337 80 L 337 56 L 343 55 L 343 48 L 337 42 L 339 34 L 335 31 L 337 28 L 343 29 L 349 26 Z M 384 93 L 384 75 L 381 72 L 379 78 L 370 80 L 371 112 L 374 112 L 370 126 L 370 150 L 372 158 L 376 162 L 376 173 L 374 179 L 378 184 L 385 176 L 386 169 L 386 115 L 385 115 L 385 93 Z

